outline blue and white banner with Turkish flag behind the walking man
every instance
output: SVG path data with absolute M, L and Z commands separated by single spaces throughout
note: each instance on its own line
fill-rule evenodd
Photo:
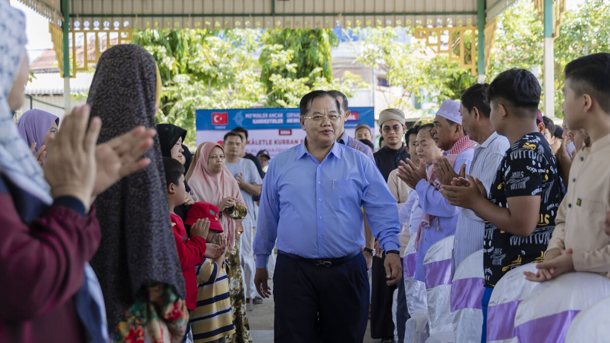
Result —
M 350 107 L 345 131 L 354 137 L 359 123 L 375 128 L 373 107 Z M 273 158 L 278 153 L 303 143 L 306 132 L 301 128 L 299 109 L 230 109 L 196 110 L 197 145 L 203 142 L 222 143 L 224 134 L 237 126 L 248 130 L 246 153 L 256 156 L 267 150 Z

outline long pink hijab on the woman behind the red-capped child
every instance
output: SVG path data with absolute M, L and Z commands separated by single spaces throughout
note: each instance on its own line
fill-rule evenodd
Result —
M 224 167 L 223 171 L 218 174 L 212 173 L 207 167 L 212 149 L 216 146 L 223 149 L 222 146 L 212 142 L 199 145 L 199 160 L 196 162 L 193 174 L 188 179 L 188 187 L 195 193 L 197 201 L 218 204 L 223 198 L 234 197 L 237 198 L 238 204 L 245 207 L 246 203 L 243 201 L 239 185 L 227 167 Z M 227 235 L 227 242 L 235 242 L 235 229 L 241 222 L 241 219 L 231 218 L 226 212 L 220 217 L 220 225 L 223 226 Z M 227 250 L 233 251 L 233 245 L 233 243 L 228 244 Z

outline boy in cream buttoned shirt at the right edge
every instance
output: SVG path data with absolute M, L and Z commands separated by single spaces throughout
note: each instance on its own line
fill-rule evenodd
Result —
M 610 272 L 610 54 L 580 57 L 565 66 L 565 121 L 572 132 L 586 131 L 589 144 L 575 153 L 567 195 L 555 231 L 531 281 L 566 272 Z M 564 251 L 565 250 L 565 251 Z

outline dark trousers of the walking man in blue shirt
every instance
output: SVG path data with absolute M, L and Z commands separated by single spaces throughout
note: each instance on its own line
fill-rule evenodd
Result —
M 275 343 L 362 342 L 368 320 L 364 256 L 322 267 L 278 253 L 273 301 Z

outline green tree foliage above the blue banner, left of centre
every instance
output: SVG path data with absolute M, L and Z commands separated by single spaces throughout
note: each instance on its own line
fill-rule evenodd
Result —
M 159 66 L 163 86 L 157 122 L 188 129 L 190 148 L 197 109 L 296 107 L 312 89 L 351 96 L 353 85 L 367 87 L 351 73 L 332 78 L 330 49 L 337 38 L 326 30 L 146 29 L 134 32 L 134 43 Z

